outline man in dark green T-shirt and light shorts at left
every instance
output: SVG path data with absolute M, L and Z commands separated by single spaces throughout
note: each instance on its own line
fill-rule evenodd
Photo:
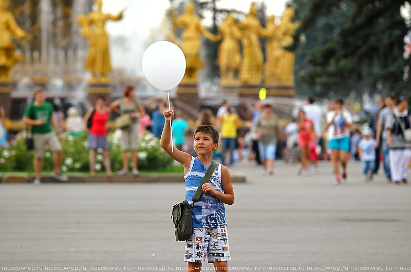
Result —
M 51 151 L 54 152 L 54 174 L 53 178 L 66 182 L 68 177 L 61 172 L 61 160 L 63 151 L 61 142 L 51 130 L 50 122 L 53 122 L 53 127 L 58 127 L 57 121 L 53 116 L 53 106 L 46 102 L 44 89 L 37 87 L 33 91 L 34 102 L 28 105 L 24 110 L 23 123 L 32 126 L 33 142 L 34 142 L 34 184 L 41 183 L 42 160 L 44 156 L 45 146 L 48 145 Z M 60 134 L 60 140 L 63 140 Z

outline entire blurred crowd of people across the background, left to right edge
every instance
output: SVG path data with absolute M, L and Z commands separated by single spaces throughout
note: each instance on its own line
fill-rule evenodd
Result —
M 156 137 L 161 137 L 165 124 L 163 112 L 167 110 L 167 103 L 158 97 L 139 101 L 135 96 L 134 87 L 127 86 L 124 96 L 111 104 L 107 103 L 105 96 L 100 95 L 84 118 L 76 107 L 70 107 L 65 119 L 59 107 L 46 101 L 45 90 L 35 88 L 33 103 L 25 108 L 23 116 L 23 123 L 30 127 L 33 134 L 34 182 L 41 183 L 46 146 L 54 153 L 54 177 L 63 182 L 68 180 L 61 172 L 63 133 L 73 137 L 87 133 L 90 174 L 95 174 L 97 150 L 101 149 L 107 176 L 111 177 L 110 144 L 107 138 L 111 113 L 126 115 L 130 122 L 121 127 L 123 167 L 117 174 L 128 174 L 128 167 L 131 166 L 132 174 L 139 176 L 139 134 L 149 130 Z M 314 98 L 308 98 L 305 105 L 298 107 L 296 118 L 285 124 L 269 102 L 257 101 L 247 108 L 251 116 L 248 122 L 241 119 L 233 105 L 223 101 L 215 115 L 211 108 L 202 108 L 198 119 L 191 123 L 184 119 L 182 111 L 176 110 L 172 131 L 174 145 L 194 155 L 193 129 L 199 125 L 214 126 L 220 132 L 220 145 L 214 152 L 214 158 L 226 166 L 232 166 L 242 158 L 255 161 L 260 165 L 263 175 L 274 176 L 274 162 L 278 159 L 297 163 L 298 175 L 320 174 L 319 159 L 330 159 L 333 183 L 338 185 L 348 179 L 349 162 L 361 160 L 365 181 L 370 182 L 378 172 L 381 159 L 387 180 L 406 184 L 411 160 L 411 125 L 407 106 L 404 96 L 397 98 L 394 94 L 387 94 L 379 106 L 369 111 L 369 118 L 364 123 L 358 122 L 358 116 L 361 115 L 359 110 L 352 115 L 344 106 L 342 98 L 329 102 L 328 111 L 316 105 Z M 4 122 L 4 109 L 0 105 L 2 145 L 7 144 Z M 130 165 L 129 158 L 132 160 Z

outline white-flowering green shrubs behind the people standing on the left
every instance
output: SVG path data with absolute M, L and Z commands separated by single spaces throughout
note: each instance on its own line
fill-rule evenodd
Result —
M 110 161 L 113 171 L 122 169 L 121 131 L 115 130 L 108 135 L 110 143 Z M 63 172 L 88 172 L 89 149 L 87 135 L 73 137 L 66 135 L 63 145 Z M 24 139 L 20 139 L 5 149 L 0 147 L 0 172 L 1 171 L 33 171 L 33 150 L 27 151 Z M 43 158 L 43 171 L 53 170 L 52 152 L 46 149 Z M 172 164 L 173 159 L 164 152 L 160 141 L 150 132 L 146 131 L 139 136 L 139 150 L 137 153 L 138 168 L 140 170 L 155 170 L 165 168 Z M 103 150 L 97 150 L 96 172 L 104 169 Z M 132 165 L 129 153 L 130 168 Z

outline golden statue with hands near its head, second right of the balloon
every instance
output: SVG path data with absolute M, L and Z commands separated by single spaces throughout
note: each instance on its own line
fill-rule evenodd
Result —
M 218 48 L 217 64 L 220 66 L 221 85 L 236 85 L 234 72 L 240 68 L 241 55 L 238 41 L 241 40 L 241 31 L 234 22 L 232 14 L 218 28 L 217 38 L 222 42 Z

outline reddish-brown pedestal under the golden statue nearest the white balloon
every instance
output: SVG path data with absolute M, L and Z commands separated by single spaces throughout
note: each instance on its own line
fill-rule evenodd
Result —
M 189 119 L 196 120 L 200 109 L 197 84 L 180 84 L 177 89 L 176 109 L 183 111 Z

